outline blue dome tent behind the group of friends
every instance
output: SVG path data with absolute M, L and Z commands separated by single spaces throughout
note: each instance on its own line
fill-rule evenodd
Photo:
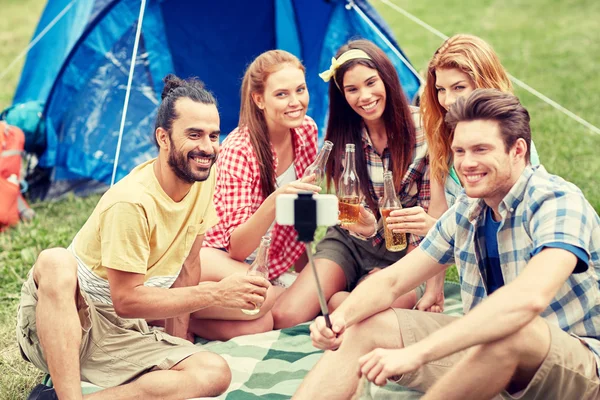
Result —
M 34 177 L 34 197 L 110 184 L 139 15 L 140 0 L 48 1 L 35 36 L 47 32 L 28 54 L 14 98 L 14 104 L 44 107 L 39 166 L 47 179 Z M 166 74 L 202 79 L 219 102 L 221 130 L 229 132 L 237 123 L 246 65 L 268 49 L 288 50 L 306 66 L 308 113 L 322 133 L 327 85 L 317 74 L 356 37 L 386 51 L 412 100 L 419 79 L 364 0 L 148 0 L 116 180 L 156 155 L 152 131 Z

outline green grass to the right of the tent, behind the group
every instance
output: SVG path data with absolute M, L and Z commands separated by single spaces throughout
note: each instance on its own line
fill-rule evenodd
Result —
M 471 33 L 488 41 L 513 76 L 600 127 L 600 2 L 597 0 L 391 0 L 452 36 Z M 444 11 L 441 10 L 443 4 Z M 418 71 L 425 71 L 442 39 L 381 0 L 373 5 L 392 27 Z M 581 188 L 600 210 L 600 135 L 592 133 L 523 89 L 532 136 L 549 172 Z

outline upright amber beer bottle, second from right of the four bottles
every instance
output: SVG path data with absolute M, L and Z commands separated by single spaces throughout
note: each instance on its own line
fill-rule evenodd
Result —
M 355 224 L 360 212 L 360 182 L 356 174 L 354 144 L 346 144 L 344 156 L 344 171 L 337 187 L 337 197 L 340 207 L 340 223 Z

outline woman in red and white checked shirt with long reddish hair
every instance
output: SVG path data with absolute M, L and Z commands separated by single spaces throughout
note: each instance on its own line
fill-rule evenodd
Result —
M 203 280 L 245 273 L 264 235 L 271 236 L 269 279 L 280 277 L 298 261 L 304 245 L 293 227 L 274 223 L 275 198 L 321 190 L 312 184 L 314 175 L 299 179 L 317 154 L 317 126 L 306 115 L 309 95 L 300 61 L 283 50 L 261 54 L 246 70 L 241 97 L 239 126 L 223 141 L 216 162 L 214 203 L 220 222 L 204 237 Z M 232 321 L 227 335 L 271 330 L 270 309 L 281 291 L 271 287 L 255 316 L 239 311 L 237 319 L 254 320 Z

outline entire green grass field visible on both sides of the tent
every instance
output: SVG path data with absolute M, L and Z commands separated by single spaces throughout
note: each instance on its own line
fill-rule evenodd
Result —
M 488 40 L 511 74 L 600 126 L 600 2 L 597 0 L 392 0 L 446 35 L 473 33 Z M 418 70 L 441 39 L 381 1 L 373 4 L 393 28 Z M 44 2 L 0 0 L 0 73 L 27 46 Z M 444 7 L 442 10 L 441 7 Z M 0 81 L 0 109 L 11 103 L 22 63 Z M 41 66 L 42 67 L 42 66 Z M 516 94 L 532 115 L 542 163 L 582 188 L 600 210 L 600 135 L 590 133 L 529 93 Z M 37 218 L 0 234 L 0 399 L 23 399 L 40 374 L 20 361 L 14 315 L 27 270 L 44 248 L 67 246 L 98 197 L 35 204 Z M 453 279 L 456 279 L 454 276 Z

